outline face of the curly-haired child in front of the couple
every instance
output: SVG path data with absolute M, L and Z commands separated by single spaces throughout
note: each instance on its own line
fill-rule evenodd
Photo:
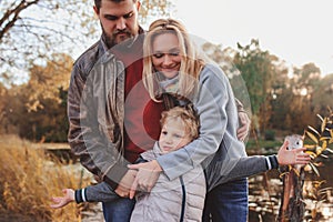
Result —
M 191 141 L 192 139 L 186 133 L 186 128 L 180 118 L 168 118 L 165 120 L 159 140 L 163 153 L 178 150 Z

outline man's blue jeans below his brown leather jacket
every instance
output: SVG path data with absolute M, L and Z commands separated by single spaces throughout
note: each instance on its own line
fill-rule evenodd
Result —
M 135 201 L 119 198 L 114 201 L 102 202 L 105 222 L 129 222 Z

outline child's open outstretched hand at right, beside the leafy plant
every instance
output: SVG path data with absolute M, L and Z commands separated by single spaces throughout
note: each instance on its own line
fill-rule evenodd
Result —
M 278 162 L 280 165 L 307 164 L 311 160 L 305 148 L 287 150 L 289 142 L 285 140 L 278 152 Z

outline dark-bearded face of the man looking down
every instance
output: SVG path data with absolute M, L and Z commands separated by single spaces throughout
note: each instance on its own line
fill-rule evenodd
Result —
M 109 48 L 138 34 L 139 8 L 140 2 L 133 3 L 133 0 L 124 0 L 118 3 L 102 0 L 99 11 L 94 7 Z

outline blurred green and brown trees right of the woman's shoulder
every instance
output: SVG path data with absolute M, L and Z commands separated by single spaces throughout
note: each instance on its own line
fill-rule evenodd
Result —
M 235 97 L 250 108 L 256 135 L 264 135 L 265 129 L 302 134 L 307 124 L 316 124 L 313 113 L 333 107 L 333 74 L 322 78 L 313 63 L 291 70 L 261 50 L 258 40 L 239 44 L 238 50 L 209 42 L 202 49 L 229 77 Z

